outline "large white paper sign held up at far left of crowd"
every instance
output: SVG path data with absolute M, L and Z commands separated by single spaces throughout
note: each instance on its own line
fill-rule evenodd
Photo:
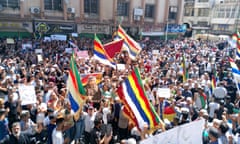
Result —
M 37 102 L 35 88 L 33 85 L 19 85 L 18 91 L 22 105 L 35 104 Z

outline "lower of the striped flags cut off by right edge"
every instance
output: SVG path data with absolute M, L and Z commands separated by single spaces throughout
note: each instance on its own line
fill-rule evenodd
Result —
M 235 80 L 236 83 L 236 87 L 239 91 L 239 87 L 240 87 L 240 70 L 238 68 L 238 66 L 236 65 L 236 63 L 234 62 L 233 59 L 229 58 L 229 62 L 230 65 L 232 67 L 232 74 L 233 74 L 233 78 Z

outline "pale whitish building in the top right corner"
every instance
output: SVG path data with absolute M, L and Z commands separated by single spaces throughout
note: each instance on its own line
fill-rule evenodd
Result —
M 185 0 L 182 22 L 194 33 L 232 34 L 239 28 L 239 0 Z

